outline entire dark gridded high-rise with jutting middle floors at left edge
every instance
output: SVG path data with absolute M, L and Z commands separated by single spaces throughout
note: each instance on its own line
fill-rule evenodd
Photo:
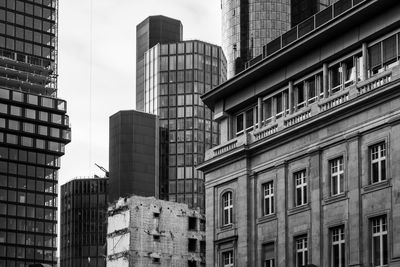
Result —
M 57 263 L 57 171 L 70 142 L 57 98 L 56 0 L 0 0 L 0 266 Z

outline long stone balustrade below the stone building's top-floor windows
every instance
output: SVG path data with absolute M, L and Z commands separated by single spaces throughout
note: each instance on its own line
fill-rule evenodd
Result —
M 216 146 L 206 152 L 205 160 L 210 160 L 218 156 L 227 156 L 240 150 L 244 150 L 247 146 L 251 146 L 256 142 L 267 140 L 271 136 L 301 125 L 303 122 L 310 120 L 317 115 L 325 114 L 334 109 L 345 105 L 351 100 L 355 100 L 374 90 L 381 89 L 386 84 L 400 80 L 400 66 L 397 65 L 391 69 L 374 75 L 373 77 L 352 84 L 340 91 L 313 102 L 312 104 L 300 108 L 294 113 L 284 114 L 279 117 L 268 118 L 264 120 L 260 128 L 251 132 L 246 132 L 240 136 L 231 139 L 219 146 Z

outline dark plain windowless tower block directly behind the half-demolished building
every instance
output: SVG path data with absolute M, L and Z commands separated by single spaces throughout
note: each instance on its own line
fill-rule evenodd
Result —
M 167 141 L 153 114 L 124 110 L 110 117 L 110 202 L 132 194 L 168 197 Z

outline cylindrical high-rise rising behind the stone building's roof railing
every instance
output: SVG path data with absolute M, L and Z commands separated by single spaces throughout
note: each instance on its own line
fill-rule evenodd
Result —
M 222 48 L 228 78 L 263 53 L 263 46 L 334 0 L 222 0 Z

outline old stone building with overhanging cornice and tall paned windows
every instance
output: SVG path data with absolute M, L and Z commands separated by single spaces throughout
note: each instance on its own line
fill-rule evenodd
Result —
M 207 266 L 400 266 L 400 3 L 290 33 L 202 96 Z

